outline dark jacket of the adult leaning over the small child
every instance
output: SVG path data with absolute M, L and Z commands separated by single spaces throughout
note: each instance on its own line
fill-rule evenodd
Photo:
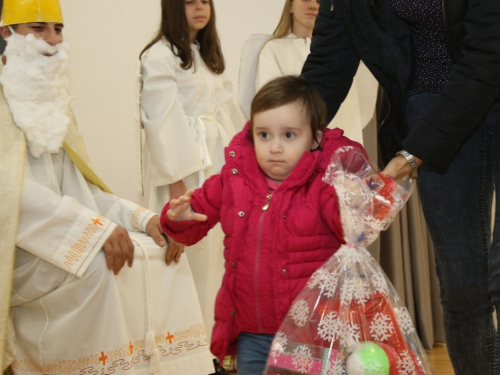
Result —
M 321 0 L 302 75 L 337 112 L 363 60 L 384 91 L 379 142 L 387 162 L 401 148 L 444 173 L 500 94 L 500 1 L 442 0 L 450 80 L 409 133 L 406 102 L 411 72 L 408 24 L 388 0 Z M 500 124 L 499 124 L 500 126 Z

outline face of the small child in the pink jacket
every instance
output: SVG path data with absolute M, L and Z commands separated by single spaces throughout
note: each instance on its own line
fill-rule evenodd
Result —
M 318 139 L 320 137 L 318 134 Z M 260 168 L 276 182 L 288 177 L 302 155 L 316 147 L 311 126 L 300 103 L 255 114 L 253 140 Z

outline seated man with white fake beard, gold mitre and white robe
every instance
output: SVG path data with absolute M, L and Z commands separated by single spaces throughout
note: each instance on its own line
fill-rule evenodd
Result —
M 59 1 L 6 0 L 2 25 L 0 370 L 211 372 L 189 266 L 165 265 L 159 216 L 90 166 Z

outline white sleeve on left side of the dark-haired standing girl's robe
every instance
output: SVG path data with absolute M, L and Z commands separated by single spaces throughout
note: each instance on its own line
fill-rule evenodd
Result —
M 142 56 L 141 120 L 155 186 L 170 185 L 203 169 L 178 98 L 176 58 L 160 42 Z

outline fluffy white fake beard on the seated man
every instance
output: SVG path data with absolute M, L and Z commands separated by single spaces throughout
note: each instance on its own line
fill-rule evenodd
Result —
M 0 83 L 14 122 L 26 135 L 35 158 L 59 152 L 68 131 L 68 50 L 66 42 L 51 46 L 33 34 L 13 33 L 7 39 L 7 64 Z

